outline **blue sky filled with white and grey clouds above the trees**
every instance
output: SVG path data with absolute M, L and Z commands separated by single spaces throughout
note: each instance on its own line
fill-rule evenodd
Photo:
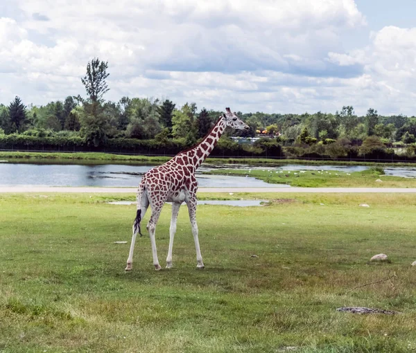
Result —
M 0 102 L 110 91 L 235 111 L 416 115 L 414 0 L 1 0 Z

